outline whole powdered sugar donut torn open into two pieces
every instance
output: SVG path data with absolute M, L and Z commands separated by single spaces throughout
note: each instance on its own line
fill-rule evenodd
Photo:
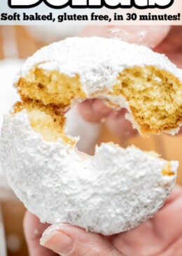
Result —
M 113 143 L 89 156 L 66 135 L 64 113 L 102 98 L 127 108 L 141 134 L 181 126 L 182 72 L 144 46 L 116 39 L 69 38 L 27 59 L 15 79 L 22 98 L 5 115 L 0 159 L 8 182 L 41 222 L 69 222 L 111 235 L 134 228 L 163 205 L 178 162 Z

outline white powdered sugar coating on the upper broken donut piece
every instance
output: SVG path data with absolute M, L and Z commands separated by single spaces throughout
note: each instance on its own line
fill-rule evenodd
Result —
M 26 77 L 35 65 L 69 77 L 80 75 L 87 96 L 102 89 L 111 91 L 118 73 L 134 66 L 153 65 L 171 72 L 182 82 L 182 71 L 165 55 L 154 53 L 146 46 L 102 37 L 70 37 L 43 47 L 27 59 L 15 82 Z

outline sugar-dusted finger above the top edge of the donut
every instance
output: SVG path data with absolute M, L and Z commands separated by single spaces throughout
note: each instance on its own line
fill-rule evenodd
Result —
M 81 37 L 118 38 L 135 44 L 143 44 L 150 48 L 158 46 L 167 37 L 169 26 L 88 26 L 80 34 Z

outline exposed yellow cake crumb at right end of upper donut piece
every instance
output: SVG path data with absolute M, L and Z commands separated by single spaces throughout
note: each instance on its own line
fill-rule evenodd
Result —
M 182 84 L 169 72 L 153 66 L 127 68 L 118 77 L 113 95 L 129 101 L 141 133 L 158 134 L 179 127 L 182 120 Z

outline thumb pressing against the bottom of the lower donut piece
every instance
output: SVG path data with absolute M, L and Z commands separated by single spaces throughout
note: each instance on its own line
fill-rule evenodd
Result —
M 123 255 L 103 236 L 67 224 L 53 225 L 46 229 L 41 245 L 64 256 Z

